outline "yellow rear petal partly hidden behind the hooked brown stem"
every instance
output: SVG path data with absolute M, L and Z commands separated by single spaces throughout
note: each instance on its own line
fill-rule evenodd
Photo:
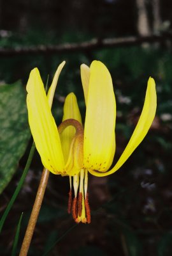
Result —
M 64 115 L 62 121 L 73 118 L 82 124 L 82 118 L 80 114 L 80 109 L 78 108 L 77 99 L 74 93 L 69 93 L 64 102 Z M 61 134 L 61 145 L 62 152 L 64 156 L 64 162 L 66 163 L 69 156 L 69 148 L 73 136 L 75 135 L 75 127 L 67 127 Z

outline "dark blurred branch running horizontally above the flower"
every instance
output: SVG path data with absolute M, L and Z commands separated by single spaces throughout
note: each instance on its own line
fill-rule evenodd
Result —
M 59 45 L 37 45 L 37 46 L 18 46 L 13 48 L 0 47 L 0 56 L 13 56 L 22 54 L 54 54 L 57 52 L 75 52 L 75 51 L 89 51 L 92 49 L 138 45 L 143 42 L 165 42 L 172 40 L 172 34 L 166 35 L 152 35 L 152 36 L 129 36 L 124 38 L 105 38 L 92 39 L 82 43 L 66 43 Z

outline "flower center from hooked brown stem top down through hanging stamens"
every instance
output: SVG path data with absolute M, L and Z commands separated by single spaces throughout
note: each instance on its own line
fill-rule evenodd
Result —
M 70 182 L 68 213 L 72 212 L 76 223 L 80 221 L 90 223 L 89 195 L 87 193 L 88 170 L 83 168 L 83 127 L 77 120 L 67 119 L 59 125 L 59 134 L 69 125 L 75 127 L 76 132 L 71 140 L 68 161 L 65 166 Z M 72 198 L 72 179 L 74 198 Z

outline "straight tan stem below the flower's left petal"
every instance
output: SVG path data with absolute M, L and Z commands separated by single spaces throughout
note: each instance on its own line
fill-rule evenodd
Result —
M 47 187 L 49 174 L 50 172 L 44 168 L 19 256 L 26 256 L 29 250 L 29 246 L 31 244 L 31 239 L 32 239 L 32 235 L 36 225 L 36 221 L 38 220 L 39 210 L 41 208 L 41 204 L 43 202 L 43 196 L 45 194 L 45 189 Z

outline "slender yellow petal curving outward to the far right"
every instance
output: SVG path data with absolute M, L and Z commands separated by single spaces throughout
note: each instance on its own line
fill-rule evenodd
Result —
M 109 172 L 97 173 L 95 171 L 90 170 L 90 173 L 102 177 L 116 172 L 122 166 L 122 164 L 125 163 L 129 156 L 131 156 L 136 147 L 140 145 L 143 138 L 145 138 L 145 136 L 147 135 L 147 132 L 150 129 L 150 126 L 152 125 L 152 122 L 154 120 L 156 108 L 157 95 L 155 90 L 155 81 L 152 77 L 150 77 L 148 79 L 147 93 L 140 119 L 138 120 L 138 124 L 134 129 L 133 135 L 131 136 L 131 139 L 129 140 L 127 147 L 122 153 L 122 156 L 120 156 L 120 159 L 118 159 L 117 164 L 115 164 L 115 166 Z

